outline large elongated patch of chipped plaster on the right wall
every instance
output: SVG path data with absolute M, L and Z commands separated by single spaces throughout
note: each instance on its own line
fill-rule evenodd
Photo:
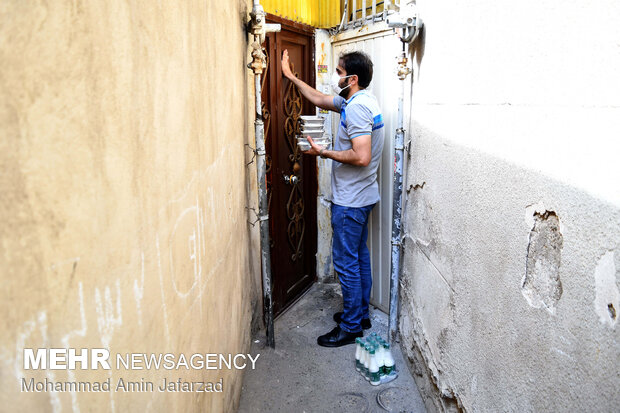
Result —
M 527 246 L 521 293 L 532 307 L 555 314 L 555 306 L 562 296 L 560 265 L 564 241 L 560 220 L 554 211 L 536 208 L 532 216 L 534 225 Z

